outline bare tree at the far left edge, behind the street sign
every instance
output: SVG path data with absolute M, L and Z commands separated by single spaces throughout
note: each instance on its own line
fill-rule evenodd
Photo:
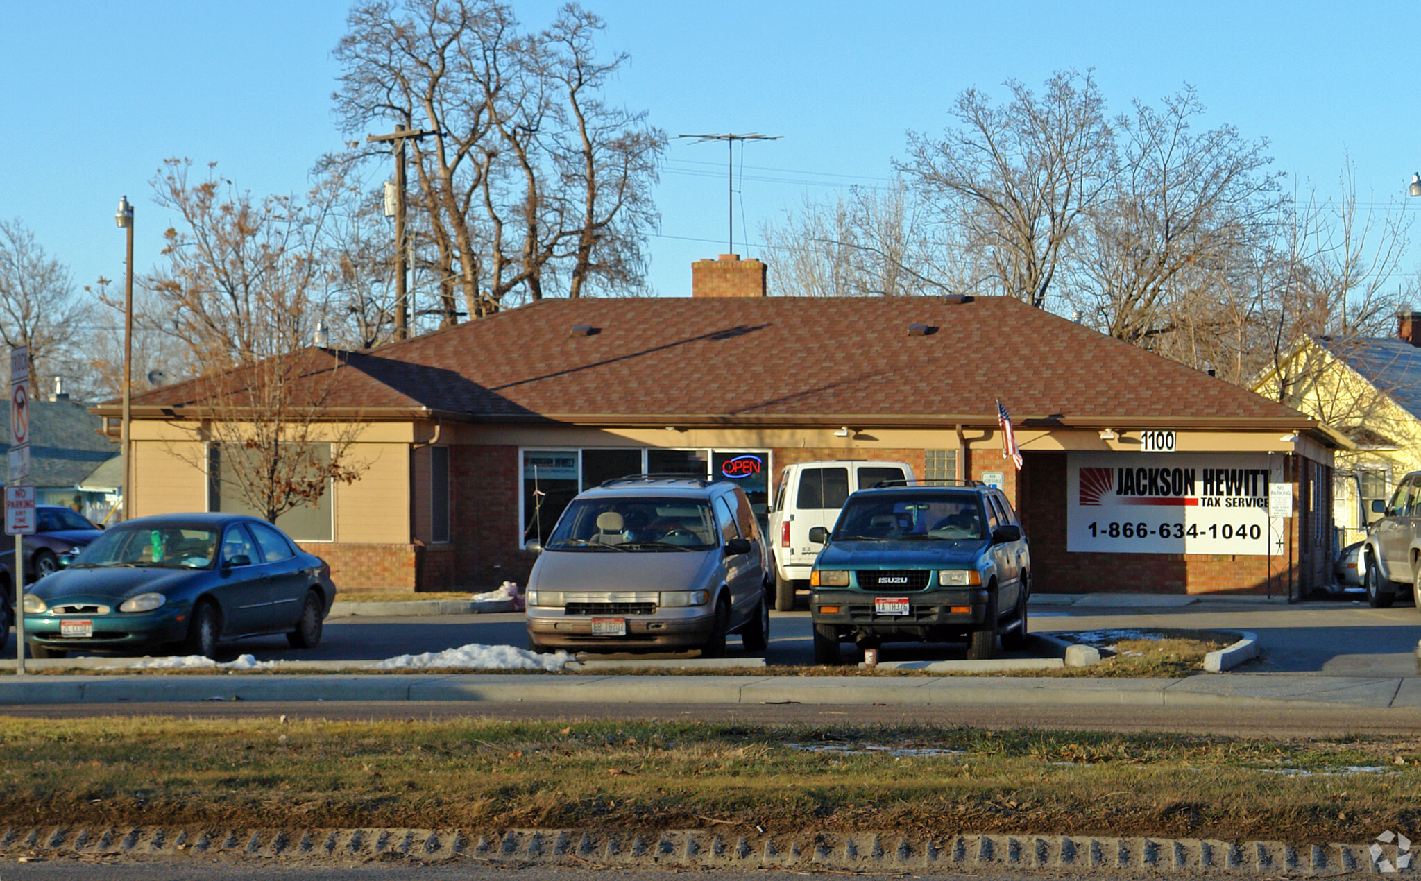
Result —
M 70 270 L 18 220 L 0 220 L 0 340 L 30 347 L 30 391 L 54 375 L 87 374 L 75 325 L 84 303 Z

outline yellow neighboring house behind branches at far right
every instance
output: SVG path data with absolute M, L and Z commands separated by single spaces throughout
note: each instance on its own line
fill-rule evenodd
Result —
M 1253 391 L 1340 435 L 1333 477 L 1337 547 L 1360 541 L 1388 499 L 1421 469 L 1421 313 L 1398 315 L 1397 337 L 1307 337 Z

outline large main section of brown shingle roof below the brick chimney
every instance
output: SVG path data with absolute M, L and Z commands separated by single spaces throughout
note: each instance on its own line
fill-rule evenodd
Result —
M 352 354 L 350 367 L 342 405 L 485 421 L 992 423 L 1000 398 L 1017 423 L 1310 425 L 1005 297 L 543 300 Z M 136 402 L 172 404 L 180 388 Z

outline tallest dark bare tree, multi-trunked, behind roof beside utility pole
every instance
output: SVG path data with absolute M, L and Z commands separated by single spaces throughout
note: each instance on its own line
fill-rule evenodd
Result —
M 603 21 L 567 6 L 523 33 L 497 0 L 355 7 L 335 50 L 348 132 L 402 124 L 441 269 L 445 324 L 458 297 L 486 315 L 512 297 L 581 296 L 642 281 L 651 185 L 665 134 L 603 97 L 625 55 L 600 61 Z

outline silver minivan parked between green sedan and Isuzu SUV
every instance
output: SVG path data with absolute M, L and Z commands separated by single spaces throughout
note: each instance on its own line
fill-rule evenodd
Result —
M 634 475 L 580 493 L 557 519 L 527 584 L 529 648 L 699 648 L 728 634 L 764 651 L 769 605 L 760 527 L 745 492 L 679 475 Z

